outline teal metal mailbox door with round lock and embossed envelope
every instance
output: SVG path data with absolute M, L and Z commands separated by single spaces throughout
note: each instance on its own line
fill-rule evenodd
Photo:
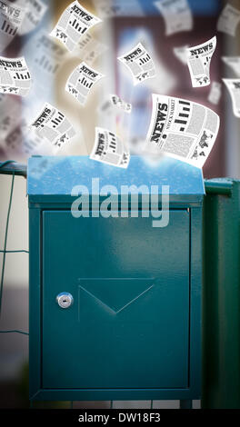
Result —
M 189 233 L 186 210 L 165 228 L 43 213 L 43 388 L 188 386 Z

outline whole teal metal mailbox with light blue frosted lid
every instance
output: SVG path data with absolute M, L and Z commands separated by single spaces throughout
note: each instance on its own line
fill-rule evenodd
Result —
M 199 399 L 204 193 L 169 158 L 29 159 L 31 400 Z

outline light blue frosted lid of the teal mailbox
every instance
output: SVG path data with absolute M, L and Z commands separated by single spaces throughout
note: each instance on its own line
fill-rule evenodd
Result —
M 30 203 L 67 202 L 77 185 L 85 185 L 90 195 L 99 194 L 105 185 L 115 186 L 118 194 L 122 186 L 135 185 L 134 194 L 145 192 L 143 188 L 139 190 L 141 185 L 149 192 L 151 186 L 158 186 L 162 194 L 162 186 L 168 185 L 170 201 L 200 201 L 205 194 L 202 170 L 169 157 L 154 165 L 143 157 L 132 155 L 127 169 L 96 162 L 89 156 L 29 158 L 27 194 Z

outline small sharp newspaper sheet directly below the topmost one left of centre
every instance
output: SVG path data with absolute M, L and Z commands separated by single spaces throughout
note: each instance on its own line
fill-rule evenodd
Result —
M 80 104 L 84 105 L 91 88 L 102 77 L 104 77 L 103 74 L 83 62 L 68 77 L 65 90 L 75 96 Z

